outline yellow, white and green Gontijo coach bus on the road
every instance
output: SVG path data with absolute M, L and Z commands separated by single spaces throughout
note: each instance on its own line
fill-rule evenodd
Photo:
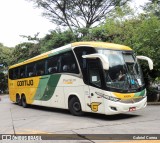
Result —
M 124 45 L 75 42 L 9 67 L 12 102 L 69 109 L 73 115 L 106 115 L 146 107 L 147 96 L 138 60 Z

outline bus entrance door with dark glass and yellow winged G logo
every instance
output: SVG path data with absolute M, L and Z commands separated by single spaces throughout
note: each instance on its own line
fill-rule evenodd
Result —
M 89 83 L 89 98 L 92 112 L 104 112 L 103 104 L 103 70 L 99 59 L 87 59 L 88 63 L 88 83 Z

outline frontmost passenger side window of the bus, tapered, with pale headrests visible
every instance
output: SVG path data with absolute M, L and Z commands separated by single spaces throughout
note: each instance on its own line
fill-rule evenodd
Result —
M 78 65 L 72 51 L 62 54 L 60 72 L 79 74 Z

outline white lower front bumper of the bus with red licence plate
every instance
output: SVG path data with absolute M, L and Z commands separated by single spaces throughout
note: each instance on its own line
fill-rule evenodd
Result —
M 124 112 L 132 112 L 142 108 L 145 108 L 147 105 L 147 97 L 144 97 L 141 101 L 135 103 L 122 103 L 106 100 L 105 102 L 105 114 L 113 115 Z

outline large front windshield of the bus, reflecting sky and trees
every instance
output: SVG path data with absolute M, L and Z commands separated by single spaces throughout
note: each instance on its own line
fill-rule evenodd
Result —
M 144 87 L 141 67 L 133 52 L 100 49 L 109 61 L 105 70 L 106 86 L 116 90 L 133 91 Z

